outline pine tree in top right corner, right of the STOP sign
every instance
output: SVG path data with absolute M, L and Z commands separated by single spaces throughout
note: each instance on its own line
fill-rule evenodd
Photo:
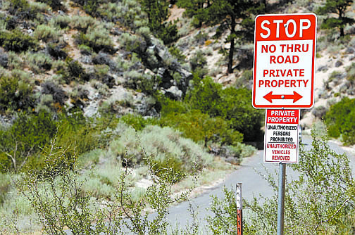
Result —
M 340 29 L 340 37 L 344 37 L 344 27 L 347 24 L 353 24 L 355 21 L 352 18 L 345 16 L 347 7 L 351 6 L 353 0 L 327 0 L 325 6 L 318 9 L 318 13 L 321 15 L 328 15 L 329 13 L 336 13 L 337 18 L 327 18 L 321 27 L 330 29 L 338 27 Z

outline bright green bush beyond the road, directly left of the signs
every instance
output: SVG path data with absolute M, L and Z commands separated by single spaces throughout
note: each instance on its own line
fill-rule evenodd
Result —
M 251 91 L 234 87 L 222 89 L 222 85 L 213 82 L 211 77 L 201 81 L 194 77 L 194 80 L 194 89 L 185 98 L 185 102 L 190 103 L 192 108 L 212 118 L 229 120 L 232 129 L 243 134 L 244 141 L 263 139 L 263 114 L 251 106 Z

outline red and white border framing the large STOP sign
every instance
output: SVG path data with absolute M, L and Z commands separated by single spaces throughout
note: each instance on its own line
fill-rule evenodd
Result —
M 312 77 L 311 77 L 311 103 L 309 105 L 293 105 L 293 104 L 287 104 L 287 105 L 273 105 L 273 104 L 268 104 L 268 105 L 257 105 L 255 103 L 255 97 L 256 97 L 256 56 L 257 56 L 257 44 L 259 41 L 256 41 L 256 19 L 260 17 L 273 17 L 273 16 L 292 16 L 292 15 L 312 15 L 314 16 L 316 20 L 316 25 L 315 25 L 315 32 L 314 32 L 314 38 L 313 40 L 313 53 L 312 53 Z M 315 67 L 316 67 L 316 46 L 317 46 L 317 15 L 315 13 L 294 13 L 294 14 L 266 14 L 266 15 L 256 15 L 255 18 L 255 25 L 254 25 L 254 68 L 253 68 L 253 100 L 252 100 L 252 105 L 254 108 L 259 108 L 259 109 L 268 109 L 268 108 L 293 108 L 293 109 L 310 109 L 313 108 L 314 106 L 314 78 L 315 78 Z M 278 40 L 278 41 L 287 41 L 287 40 Z

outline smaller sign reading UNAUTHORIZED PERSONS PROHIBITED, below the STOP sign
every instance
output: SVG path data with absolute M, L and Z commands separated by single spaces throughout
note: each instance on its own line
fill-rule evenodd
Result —
M 298 163 L 299 110 L 266 110 L 264 163 Z

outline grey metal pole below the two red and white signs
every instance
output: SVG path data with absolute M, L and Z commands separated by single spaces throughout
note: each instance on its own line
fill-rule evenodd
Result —
M 285 178 L 286 164 L 279 164 L 279 188 L 278 188 L 278 235 L 284 232 L 284 214 L 285 214 Z

